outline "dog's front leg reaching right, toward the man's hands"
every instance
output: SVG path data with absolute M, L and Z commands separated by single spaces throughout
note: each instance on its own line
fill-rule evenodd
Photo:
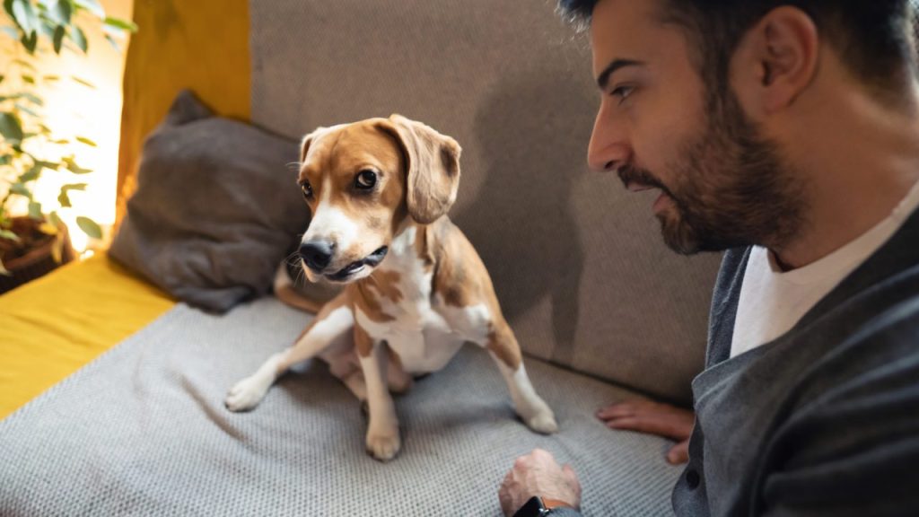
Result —
M 497 326 L 488 337 L 487 348 L 498 365 L 498 370 L 505 377 L 507 388 L 511 392 L 516 414 L 523 419 L 527 427 L 542 434 L 551 434 L 559 430 L 555 415 L 548 404 L 536 393 L 529 382 L 527 369 L 523 366 L 520 346 L 514 332 L 507 326 Z

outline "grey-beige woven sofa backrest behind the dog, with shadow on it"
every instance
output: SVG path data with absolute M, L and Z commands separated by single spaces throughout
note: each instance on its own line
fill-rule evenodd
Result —
M 554 6 L 252 1 L 253 119 L 299 137 L 399 112 L 455 137 L 450 217 L 521 346 L 688 403 L 718 258 L 676 256 L 650 194 L 586 170 L 599 93 Z

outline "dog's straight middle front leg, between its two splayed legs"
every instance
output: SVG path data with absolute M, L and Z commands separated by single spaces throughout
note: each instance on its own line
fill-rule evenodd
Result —
M 399 437 L 399 419 L 387 384 L 386 350 L 379 339 L 372 339 L 357 323 L 354 326 L 354 342 L 367 385 L 370 413 L 367 451 L 380 461 L 389 461 L 399 453 L 402 440 Z

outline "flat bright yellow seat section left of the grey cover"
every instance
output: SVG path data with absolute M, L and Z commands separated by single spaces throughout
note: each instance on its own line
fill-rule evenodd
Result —
M 104 255 L 0 296 L 0 419 L 175 304 Z

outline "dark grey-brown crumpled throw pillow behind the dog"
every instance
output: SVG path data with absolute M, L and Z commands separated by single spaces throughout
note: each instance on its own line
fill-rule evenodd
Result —
M 143 145 L 109 255 L 210 311 L 267 293 L 310 219 L 291 170 L 298 148 L 183 91 Z

